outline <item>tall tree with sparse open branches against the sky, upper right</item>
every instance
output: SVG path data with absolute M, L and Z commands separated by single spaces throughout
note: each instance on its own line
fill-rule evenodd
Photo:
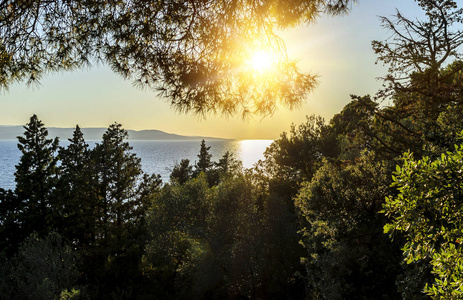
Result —
M 453 144 L 441 137 L 438 119 L 451 107 L 457 119 L 462 117 L 462 8 L 456 1 L 417 2 L 425 20 L 412 20 L 399 11 L 395 19 L 381 17 L 391 36 L 372 42 L 378 62 L 389 66 L 377 99 L 392 100 L 394 105 L 374 113 L 379 132 L 385 134 L 382 141 L 395 157 L 395 150 L 411 151 L 419 158 L 436 148 L 451 149 Z M 433 150 L 424 150 L 423 145 Z

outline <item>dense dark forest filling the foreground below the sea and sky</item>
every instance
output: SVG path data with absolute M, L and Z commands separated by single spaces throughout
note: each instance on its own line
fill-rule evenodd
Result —
M 2 299 L 462 299 L 462 10 L 419 1 L 374 41 L 375 96 L 232 153 L 144 174 L 127 132 L 67 147 L 36 115 L 0 189 Z M 389 99 L 390 105 L 383 105 Z

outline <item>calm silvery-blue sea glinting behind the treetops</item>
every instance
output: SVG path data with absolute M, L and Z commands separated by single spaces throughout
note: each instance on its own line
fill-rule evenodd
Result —
M 17 141 L 0 141 L 0 188 L 13 189 L 15 186 L 15 166 L 19 163 L 21 152 Z M 63 146 L 67 141 L 62 142 Z M 94 146 L 95 142 L 88 142 Z M 170 172 L 175 163 L 186 158 L 190 164 L 198 161 L 200 141 L 129 141 L 133 152 L 141 158 L 142 168 L 148 174 L 160 174 L 163 182 L 168 182 Z M 259 159 L 263 159 L 265 149 L 271 140 L 241 141 L 206 141 L 210 146 L 212 160 L 218 161 L 226 151 L 234 153 L 243 162 L 243 167 L 252 167 Z

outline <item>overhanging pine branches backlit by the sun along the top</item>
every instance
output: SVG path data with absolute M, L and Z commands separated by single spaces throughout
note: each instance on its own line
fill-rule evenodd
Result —
M 268 114 L 277 102 L 301 103 L 315 85 L 275 32 L 352 2 L 1 1 L 0 86 L 104 61 L 180 111 Z M 265 80 L 246 68 L 256 49 L 278 56 Z

